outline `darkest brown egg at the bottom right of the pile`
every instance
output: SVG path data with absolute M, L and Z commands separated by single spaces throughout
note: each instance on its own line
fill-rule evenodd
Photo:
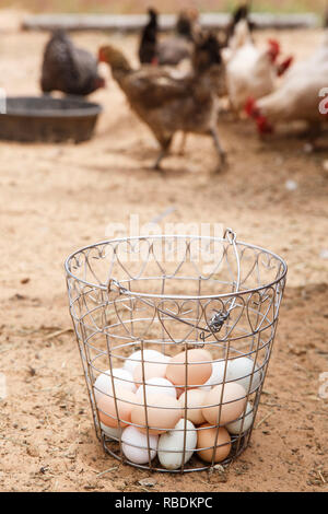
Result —
M 209 423 L 204 423 L 200 429 L 204 429 L 206 427 L 211 427 Z M 206 448 L 206 449 L 198 449 L 197 453 L 204 460 L 206 463 L 211 463 L 213 458 L 213 448 L 215 445 L 215 437 L 216 437 L 218 429 L 207 429 L 207 430 L 197 430 L 197 448 Z M 216 445 L 215 445 L 215 454 L 214 454 L 214 463 L 221 463 L 224 460 L 231 449 L 231 436 L 225 430 L 224 427 L 219 429 Z

